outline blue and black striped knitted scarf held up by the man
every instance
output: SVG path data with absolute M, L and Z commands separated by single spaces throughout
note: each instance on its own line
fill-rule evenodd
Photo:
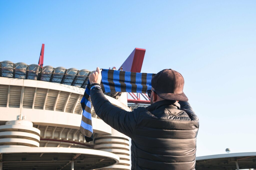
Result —
M 146 93 L 147 90 L 151 89 L 151 79 L 155 74 L 102 69 L 101 75 L 101 87 L 103 93 Z M 84 135 L 86 141 L 89 142 L 93 140 L 89 82 L 81 100 L 81 106 L 83 109 L 83 114 L 80 132 Z

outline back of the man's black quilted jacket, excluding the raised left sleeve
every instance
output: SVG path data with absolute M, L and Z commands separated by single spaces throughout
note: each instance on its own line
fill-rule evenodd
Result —
M 132 169 L 194 169 L 197 116 L 167 100 L 137 110 L 140 115 L 132 136 Z

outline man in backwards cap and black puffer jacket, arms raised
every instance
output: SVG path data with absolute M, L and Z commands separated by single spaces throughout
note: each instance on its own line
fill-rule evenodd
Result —
M 89 75 L 91 84 L 101 82 L 101 70 Z M 195 169 L 199 121 L 183 93 L 180 73 L 157 73 L 148 91 L 151 105 L 132 112 L 113 106 L 99 85 L 91 87 L 95 113 L 112 128 L 132 139 L 132 169 Z

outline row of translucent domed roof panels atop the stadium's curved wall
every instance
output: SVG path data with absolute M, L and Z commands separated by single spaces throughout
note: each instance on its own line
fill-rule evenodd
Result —
M 41 80 L 46 82 L 66 84 L 86 88 L 88 75 L 87 69 L 66 69 L 64 67 L 44 66 L 37 64 L 27 65 L 23 62 L 13 63 L 11 61 L 0 62 L 0 76 L 19 79 Z

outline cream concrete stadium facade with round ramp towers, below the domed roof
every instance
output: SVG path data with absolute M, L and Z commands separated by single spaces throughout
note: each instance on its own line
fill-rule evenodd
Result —
M 16 73 L 29 72 L 28 67 Z M 84 88 L 3 74 L 8 69 L 13 71 L 1 63 L 0 170 L 130 169 L 129 138 L 105 124 L 93 108 L 94 140 L 87 143 L 80 133 Z M 106 98 L 130 111 L 127 94 Z

